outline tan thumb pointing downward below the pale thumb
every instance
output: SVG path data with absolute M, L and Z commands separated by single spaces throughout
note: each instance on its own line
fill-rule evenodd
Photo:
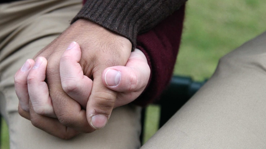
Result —
M 104 127 L 114 108 L 117 93 L 106 88 L 101 74 L 94 78 L 91 96 L 87 103 L 87 120 L 94 129 Z

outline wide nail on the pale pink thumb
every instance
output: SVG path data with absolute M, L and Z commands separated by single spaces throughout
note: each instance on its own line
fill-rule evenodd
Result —
M 114 69 L 108 69 L 104 75 L 105 83 L 108 86 L 117 86 L 121 79 L 121 73 Z

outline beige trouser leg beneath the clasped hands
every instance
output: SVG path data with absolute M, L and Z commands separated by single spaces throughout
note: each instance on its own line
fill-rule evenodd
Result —
M 114 109 L 102 130 L 71 140 L 48 135 L 17 112 L 15 72 L 66 29 L 81 6 L 81 0 L 23 0 L 0 4 L 0 110 L 9 126 L 10 149 L 140 146 L 140 108 L 132 105 Z

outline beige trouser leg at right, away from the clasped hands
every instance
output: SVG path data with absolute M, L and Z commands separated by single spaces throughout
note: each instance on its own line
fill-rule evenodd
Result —
M 142 148 L 266 148 L 266 32 L 223 57 Z

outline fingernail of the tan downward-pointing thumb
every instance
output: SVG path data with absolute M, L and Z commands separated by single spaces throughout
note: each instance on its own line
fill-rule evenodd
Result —
M 104 114 L 96 114 L 91 117 L 90 124 L 94 129 L 101 129 L 107 123 L 108 117 Z

